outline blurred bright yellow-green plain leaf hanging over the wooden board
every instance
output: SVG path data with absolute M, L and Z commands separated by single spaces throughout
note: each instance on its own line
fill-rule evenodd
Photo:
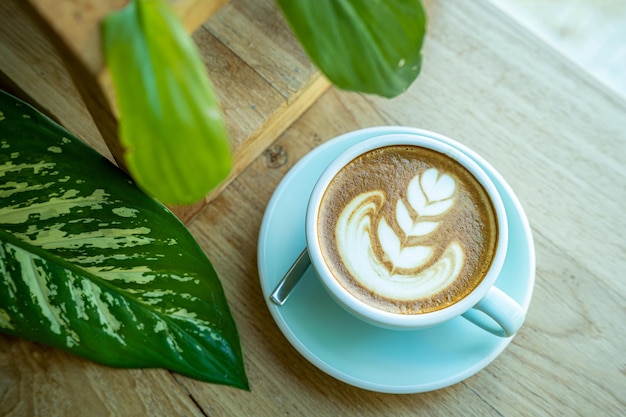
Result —
M 103 47 L 129 172 L 165 204 L 202 199 L 232 162 L 222 112 L 193 40 L 165 1 L 132 0 L 105 19 Z

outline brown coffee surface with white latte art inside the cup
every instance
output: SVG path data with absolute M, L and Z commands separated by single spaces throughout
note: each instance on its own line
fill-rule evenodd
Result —
M 335 279 L 400 314 L 443 309 L 486 275 L 497 246 L 491 199 L 454 159 L 387 146 L 348 163 L 322 198 L 318 238 Z

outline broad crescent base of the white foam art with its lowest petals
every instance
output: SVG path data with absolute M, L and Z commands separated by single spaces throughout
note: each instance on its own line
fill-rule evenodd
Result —
M 397 300 L 416 300 L 446 288 L 462 269 L 459 243 L 452 240 L 434 259 L 433 247 L 403 239 L 385 217 L 378 218 L 385 200 L 382 190 L 366 191 L 344 206 L 337 218 L 338 252 L 351 279 Z

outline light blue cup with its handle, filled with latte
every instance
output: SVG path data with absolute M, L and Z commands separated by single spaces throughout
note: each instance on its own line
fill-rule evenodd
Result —
M 510 337 L 524 311 L 494 285 L 508 245 L 504 204 L 452 143 L 391 134 L 339 155 L 309 199 L 311 264 L 340 306 L 373 325 L 418 330 L 461 316 Z

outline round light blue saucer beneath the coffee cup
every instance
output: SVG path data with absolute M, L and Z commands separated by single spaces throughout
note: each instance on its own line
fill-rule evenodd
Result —
M 287 340 L 327 374 L 384 393 L 419 393 L 460 382 L 491 363 L 512 338 L 500 338 L 458 317 L 426 330 L 394 331 L 354 318 L 337 305 L 308 268 L 286 303 L 269 299 L 306 247 L 309 195 L 322 171 L 341 152 L 386 134 L 419 134 L 448 142 L 472 157 L 501 193 L 509 219 L 509 248 L 496 286 L 527 312 L 535 282 L 535 249 L 519 200 L 494 168 L 465 146 L 438 134 L 389 126 L 357 130 L 315 148 L 285 175 L 265 211 L 258 245 L 261 288 Z

